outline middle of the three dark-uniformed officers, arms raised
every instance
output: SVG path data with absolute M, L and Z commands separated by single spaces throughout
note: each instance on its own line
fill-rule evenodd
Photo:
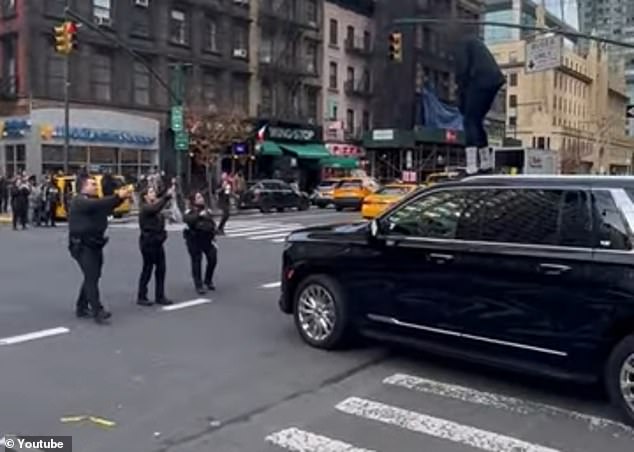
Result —
M 172 302 L 165 297 L 165 250 L 163 243 L 167 240 L 165 231 L 165 217 L 163 209 L 174 196 L 174 190 L 170 189 L 163 196 L 157 196 L 153 187 L 148 187 L 143 196 L 143 205 L 139 211 L 139 247 L 143 256 L 143 270 L 139 278 L 139 292 L 137 304 L 152 306 L 147 297 L 147 285 L 154 270 L 154 299 L 156 304 L 170 305 Z

